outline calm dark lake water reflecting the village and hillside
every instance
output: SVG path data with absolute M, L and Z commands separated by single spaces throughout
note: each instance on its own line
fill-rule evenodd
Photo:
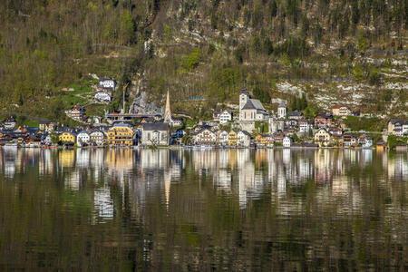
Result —
M 407 152 L 0 149 L 0 270 L 407 270 Z

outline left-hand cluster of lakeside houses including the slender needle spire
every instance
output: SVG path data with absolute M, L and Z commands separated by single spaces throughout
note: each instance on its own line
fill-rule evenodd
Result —
M 112 88 L 114 84 L 103 87 Z M 74 105 L 67 114 L 76 121 L 86 121 L 85 110 Z M 169 145 L 180 141 L 184 131 L 178 129 L 173 133 L 171 128 L 182 124 L 182 118 L 174 117 L 170 112 L 169 93 L 164 118 L 161 116 L 141 117 L 135 124 L 133 121 L 113 121 L 108 125 L 101 120 L 93 120 L 93 124 L 84 123 L 75 128 L 58 125 L 56 122 L 40 122 L 38 128 L 20 126 L 15 129 L 13 117 L 5 119 L 0 126 L 0 143 L 24 147 L 55 146 L 113 146 L 129 147 L 134 145 Z

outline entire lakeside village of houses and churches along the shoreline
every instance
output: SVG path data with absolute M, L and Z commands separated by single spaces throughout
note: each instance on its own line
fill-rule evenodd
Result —
M 111 102 L 116 82 L 100 78 L 95 86 L 96 101 Z M 70 91 L 70 90 L 64 90 Z M 305 95 L 305 94 L 304 94 Z M 124 105 L 123 105 L 124 108 Z M 38 127 L 19 126 L 13 116 L 0 126 L 0 144 L 24 148 L 89 147 L 188 147 L 212 148 L 376 148 L 407 151 L 408 121 L 391 118 L 384 131 L 350 131 L 343 119 L 360 116 L 360 111 L 335 104 L 331 112 L 319 112 L 306 118 L 303 112 L 289 112 L 280 102 L 277 112 L 267 111 L 262 102 L 251 97 L 246 87 L 239 91 L 235 108 L 214 110 L 212 120 L 192 121 L 185 112 L 172 114 L 167 92 L 163 114 L 157 112 L 105 112 L 105 116 L 86 116 L 79 104 L 65 111 L 74 121 L 68 127 L 43 121 Z M 105 121 L 105 122 L 102 122 Z M 377 134 L 376 141 L 372 136 Z M 393 142 L 390 143 L 389 137 Z

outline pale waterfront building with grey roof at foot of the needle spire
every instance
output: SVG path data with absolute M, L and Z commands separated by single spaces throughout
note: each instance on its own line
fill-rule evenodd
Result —
M 141 129 L 142 145 L 169 145 L 170 128 L 165 122 L 144 123 Z

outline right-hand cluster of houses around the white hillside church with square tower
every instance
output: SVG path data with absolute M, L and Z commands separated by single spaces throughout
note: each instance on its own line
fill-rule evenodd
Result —
M 371 147 L 373 138 L 365 133 L 347 132 L 343 117 L 360 112 L 346 105 L 334 105 L 331 112 L 320 112 L 312 119 L 302 112 L 289 112 L 285 103 L 277 113 L 268 112 L 262 102 L 252 99 L 246 88 L 239 92 L 239 111 L 214 111 L 213 120 L 193 128 L 193 144 L 257 147 Z M 230 125 L 230 129 L 220 128 Z M 263 130 L 259 130 L 263 126 Z

